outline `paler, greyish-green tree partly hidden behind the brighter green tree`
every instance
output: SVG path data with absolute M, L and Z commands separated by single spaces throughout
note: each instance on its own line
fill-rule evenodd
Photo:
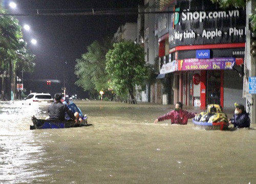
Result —
M 88 52 L 82 54 L 81 59 L 76 59 L 76 85 L 93 94 L 98 94 L 100 90 L 108 90 L 109 75 L 105 71 L 105 55 L 111 48 L 110 38 L 105 38 L 102 42 L 96 40 L 89 45 Z

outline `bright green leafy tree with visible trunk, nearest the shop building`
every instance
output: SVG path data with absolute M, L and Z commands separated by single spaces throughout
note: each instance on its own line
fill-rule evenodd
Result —
M 149 75 L 144 48 L 132 41 L 121 41 L 113 46 L 114 49 L 106 54 L 106 72 L 117 95 L 125 97 L 129 94 L 135 104 L 135 85 L 142 85 Z

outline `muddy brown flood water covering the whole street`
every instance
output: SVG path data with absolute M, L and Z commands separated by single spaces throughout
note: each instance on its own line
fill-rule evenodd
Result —
M 0 104 L 0 183 L 256 183 L 255 124 L 199 130 L 154 124 L 171 105 L 75 103 L 92 126 L 30 130 L 47 107 Z

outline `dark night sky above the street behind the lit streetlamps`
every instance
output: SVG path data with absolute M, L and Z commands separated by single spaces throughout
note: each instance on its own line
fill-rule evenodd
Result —
M 1 1 L 1 0 L 0 0 Z M 14 1 L 15 2 L 15 1 Z M 18 0 L 17 7 L 10 10 L 11 13 L 36 14 L 76 12 L 74 9 L 122 9 L 143 5 L 141 0 L 125 1 L 60 1 L 60 0 Z M 2 1 L 2 6 L 9 1 Z M 66 10 L 69 9 L 69 10 Z M 24 88 L 33 92 L 49 92 L 52 95 L 60 92 L 63 86 L 65 72 L 65 84 L 69 94 L 78 94 L 85 98 L 86 94 L 77 87 L 74 75 L 75 59 L 87 52 L 87 47 L 94 40 L 101 40 L 110 35 L 114 36 L 118 27 L 125 22 L 136 22 L 138 15 L 81 15 L 81 16 L 17 16 L 21 26 L 30 25 L 30 31 L 23 30 L 24 39 L 29 44 L 32 54 L 36 55 L 35 71 L 32 74 L 24 74 Z M 35 38 L 36 45 L 30 40 Z M 63 68 L 65 71 L 63 71 Z M 46 79 L 59 80 L 61 83 L 52 82 L 46 85 Z M 41 82 L 39 82 L 41 80 Z

